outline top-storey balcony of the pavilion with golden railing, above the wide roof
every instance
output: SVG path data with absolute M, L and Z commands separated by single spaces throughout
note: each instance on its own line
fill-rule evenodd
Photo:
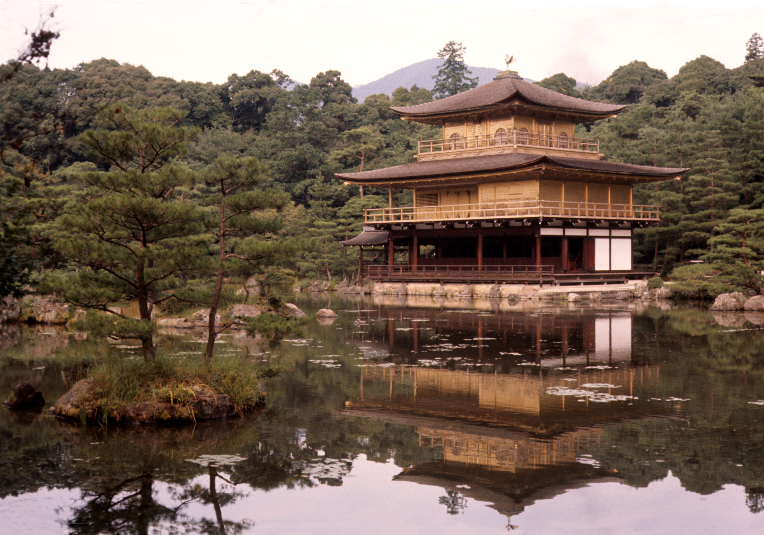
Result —
M 508 152 L 531 154 L 556 154 L 599 160 L 600 140 L 584 137 L 558 136 L 552 134 L 534 134 L 520 130 L 503 131 L 494 134 L 461 136 L 452 134 L 448 139 L 419 140 L 417 160 L 435 160 L 439 158 L 485 156 Z

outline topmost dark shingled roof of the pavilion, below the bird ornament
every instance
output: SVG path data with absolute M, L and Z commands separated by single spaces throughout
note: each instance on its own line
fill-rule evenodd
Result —
M 540 85 L 516 78 L 502 78 L 480 85 L 452 97 L 441 98 L 434 102 L 390 108 L 397 114 L 416 118 L 426 118 L 432 115 L 451 114 L 459 111 L 480 111 L 481 108 L 502 105 L 513 98 L 519 98 L 530 105 L 543 108 L 553 108 L 558 111 L 569 111 L 572 114 L 601 115 L 603 117 L 618 113 L 626 108 L 625 105 L 601 104 L 581 98 L 563 95 Z

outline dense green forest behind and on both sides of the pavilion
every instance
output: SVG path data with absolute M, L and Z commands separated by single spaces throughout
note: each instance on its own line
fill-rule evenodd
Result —
M 444 66 L 452 61 L 455 76 L 471 85 L 462 52 L 461 44 L 450 42 L 439 56 Z M 692 272 L 680 267 L 678 274 L 693 279 L 700 273 L 703 279 L 711 269 L 721 272 L 721 285 L 709 292 L 730 283 L 759 292 L 757 273 L 764 269 L 764 89 L 756 86 L 764 58 L 757 34 L 740 56 L 745 62 L 734 69 L 700 56 L 671 78 L 633 61 L 591 87 L 564 73 L 538 82 L 568 95 L 630 105 L 617 118 L 578 127 L 578 136 L 601 139 L 607 160 L 691 169 L 680 181 L 636 187 L 634 202 L 660 205 L 662 219 L 658 227 L 639 230 L 635 262 L 652 264 L 667 276 L 690 259 L 706 259 L 704 266 L 691 266 Z M 461 87 L 440 83 L 448 79 L 441 71 L 439 95 Z M 0 78 L 0 248 L 8 266 L 2 295 L 18 290 L 30 272 L 71 269 L 82 260 L 63 235 L 66 225 L 74 230 L 76 221 L 82 224 L 83 203 L 122 187 L 105 185 L 118 158 L 109 160 L 98 145 L 104 132 L 118 130 L 115 111 L 183 131 L 177 150 L 157 160 L 177 171 L 167 189 L 142 194 L 157 203 L 193 204 L 212 221 L 220 195 L 209 180 L 210 169 L 220 165 L 222 155 L 251 165 L 257 161 L 257 180 L 249 183 L 273 201 L 257 209 L 264 220 L 278 221 L 261 227 L 255 240 L 312 240 L 277 265 L 244 262 L 238 268 L 267 272 L 276 282 L 352 278 L 357 257 L 338 242 L 361 230 L 364 208 L 387 205 L 387 192 L 343 185 L 334 173 L 410 163 L 417 139 L 440 135 L 436 127 L 401 121 L 390 111 L 391 105 L 429 102 L 429 90 L 401 87 L 391 96 L 371 95 L 359 103 L 333 70 L 305 85 L 279 70 L 231 74 L 216 85 L 177 82 L 102 58 L 73 69 L 7 63 L 0 66 Z M 130 176 L 136 169 L 123 171 Z M 410 192 L 394 195 L 401 205 L 411 201 Z M 204 239 L 189 247 L 218 255 L 219 237 L 210 231 L 215 224 L 194 230 Z M 235 247 L 244 244 L 232 237 L 228 252 Z M 175 269 L 162 280 L 188 275 Z

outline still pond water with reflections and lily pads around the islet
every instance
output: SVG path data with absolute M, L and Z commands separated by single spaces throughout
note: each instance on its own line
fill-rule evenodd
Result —
M 283 370 L 261 414 L 105 430 L 2 409 L 0 533 L 764 533 L 762 317 L 297 300 L 339 317 L 216 347 Z M 3 395 L 26 380 L 55 401 L 56 356 L 139 355 L 0 336 Z

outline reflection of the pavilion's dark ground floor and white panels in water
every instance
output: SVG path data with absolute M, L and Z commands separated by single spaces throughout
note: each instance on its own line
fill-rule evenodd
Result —
M 451 337 L 450 342 L 459 341 L 458 337 L 468 340 L 468 347 L 461 344 L 448 355 L 464 356 L 473 363 L 526 360 L 542 366 L 569 366 L 632 359 L 633 318 L 628 311 L 478 314 L 384 308 L 362 318 L 369 325 L 364 327 L 364 344 L 359 345 L 377 354 L 389 353 L 399 364 L 444 356 L 438 347 L 444 336 Z

